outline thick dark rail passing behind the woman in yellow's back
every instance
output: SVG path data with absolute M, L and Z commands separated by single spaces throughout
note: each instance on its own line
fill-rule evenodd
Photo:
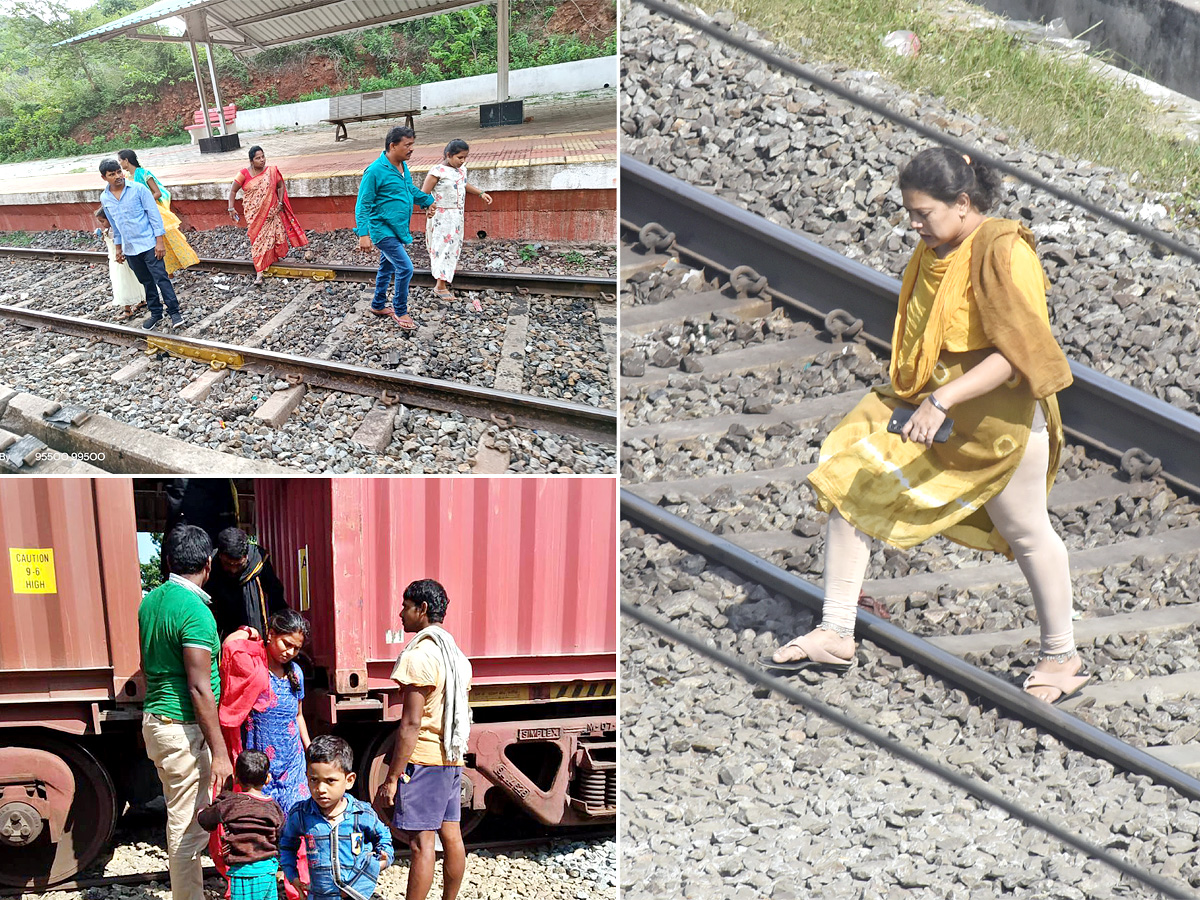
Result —
M 872 343 L 890 349 L 900 281 L 746 212 L 630 156 L 620 157 L 622 216 L 661 222 L 689 252 L 733 269 L 752 262 L 776 295 L 821 317 L 835 308 L 863 319 Z M 1200 494 L 1200 416 L 1070 361 L 1075 378 L 1058 394 L 1072 437 L 1117 456 L 1134 449 L 1162 460 L 1174 486 Z

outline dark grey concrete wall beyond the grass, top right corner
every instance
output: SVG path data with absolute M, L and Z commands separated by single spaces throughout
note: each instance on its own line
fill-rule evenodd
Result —
M 1200 98 L 1198 0 L 979 0 L 1013 19 L 1067 20 L 1112 62 L 1180 94 Z

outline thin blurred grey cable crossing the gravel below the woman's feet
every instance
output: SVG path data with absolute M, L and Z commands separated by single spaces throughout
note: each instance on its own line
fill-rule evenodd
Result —
M 751 684 L 757 684 L 760 686 L 767 688 L 768 690 L 779 694 L 781 697 L 788 700 L 796 706 L 806 709 L 810 713 L 815 713 L 816 715 L 820 715 L 822 719 L 826 719 L 827 721 L 830 721 L 834 725 L 839 725 L 842 728 L 846 728 L 847 731 L 853 732 L 854 734 L 858 734 L 862 738 L 865 738 L 881 750 L 886 750 L 893 756 L 905 760 L 906 762 L 910 762 L 913 766 L 917 766 L 918 768 L 922 768 L 925 772 L 936 775 L 947 784 L 958 787 L 960 791 L 979 800 L 983 800 L 984 803 L 988 803 L 997 809 L 1003 810 L 1016 821 L 1024 822 L 1027 826 L 1032 826 L 1044 832 L 1051 838 L 1066 844 L 1069 847 L 1074 847 L 1075 850 L 1080 851 L 1081 853 L 1085 853 L 1092 859 L 1098 859 L 1099 862 L 1116 869 L 1122 875 L 1126 875 L 1130 878 L 1135 878 L 1136 881 L 1140 881 L 1142 884 L 1153 888 L 1164 896 L 1180 898 L 1180 900 L 1194 900 L 1195 894 L 1184 890 L 1178 884 L 1168 881 L 1166 878 L 1163 878 L 1152 872 L 1147 872 L 1142 869 L 1139 869 L 1138 866 L 1121 859 L 1116 854 L 1110 853 L 1100 845 L 1093 844 L 1092 841 L 1088 840 L 1084 840 L 1082 838 L 1080 838 L 1076 834 L 1073 834 L 1066 828 L 1057 826 L 1054 822 L 1050 822 L 1044 816 L 1038 816 L 1033 812 L 1030 812 L 1020 804 L 1008 799 L 1000 791 L 995 791 L 988 787 L 986 785 L 980 784 L 978 779 L 968 778 L 947 766 L 942 766 L 941 763 L 934 762 L 924 754 L 920 754 L 908 746 L 905 746 L 904 744 L 901 744 L 899 740 L 896 740 L 884 731 L 876 728 L 871 725 L 864 725 L 857 719 L 846 715 L 845 713 L 840 713 L 839 710 L 828 706 L 827 703 L 823 703 L 820 700 L 812 697 L 811 695 L 793 688 L 784 679 L 768 676 L 762 670 L 756 668 L 746 662 L 743 662 L 739 658 L 718 649 L 716 647 L 703 641 L 702 638 L 696 637 L 695 635 L 690 635 L 686 631 L 676 628 L 674 625 L 671 625 L 667 622 L 664 622 L 661 618 L 653 616 L 646 612 L 644 610 L 641 610 L 637 606 L 634 606 L 632 604 L 623 601 L 620 604 L 620 611 L 622 613 L 629 616 L 635 622 L 638 622 L 646 628 L 655 631 L 661 637 L 672 641 L 677 644 L 683 644 L 684 647 L 688 647 L 689 649 L 707 656 L 718 665 L 725 666 L 726 668 L 737 672 Z

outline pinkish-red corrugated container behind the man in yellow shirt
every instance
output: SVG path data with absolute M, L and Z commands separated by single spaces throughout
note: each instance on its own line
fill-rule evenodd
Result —
M 418 578 L 445 587 L 476 685 L 616 677 L 611 479 L 264 479 L 254 493 L 293 602 L 307 558 L 310 653 L 336 694 L 394 686 Z

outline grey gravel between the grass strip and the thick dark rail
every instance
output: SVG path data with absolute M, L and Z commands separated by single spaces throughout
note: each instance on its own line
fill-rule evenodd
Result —
M 624 12 L 623 152 L 899 277 L 916 239 L 900 206 L 896 175 L 929 142 L 637 4 Z M 772 47 L 727 13 L 714 18 L 734 35 Z M 1172 222 L 1174 198 L 1142 190 L 1135 174 L 1040 151 L 877 73 L 773 49 L 898 113 L 1200 246 L 1194 233 Z M 1006 181 L 1004 194 L 991 215 L 1022 221 L 1038 236 L 1051 283 L 1050 314 L 1067 355 L 1200 412 L 1196 265 L 1024 184 Z

